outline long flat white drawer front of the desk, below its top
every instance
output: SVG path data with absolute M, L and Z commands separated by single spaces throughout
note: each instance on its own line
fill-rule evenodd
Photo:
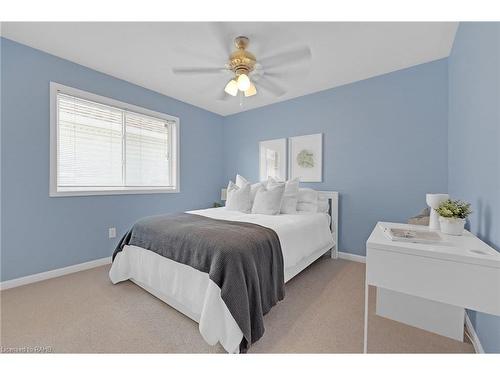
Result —
M 500 269 L 370 248 L 369 285 L 500 315 Z

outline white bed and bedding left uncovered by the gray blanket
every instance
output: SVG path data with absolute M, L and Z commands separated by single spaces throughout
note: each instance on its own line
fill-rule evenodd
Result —
M 338 193 L 320 191 L 318 194 L 328 201 L 328 213 L 260 215 L 222 207 L 188 211 L 187 214 L 271 229 L 281 245 L 280 264 L 286 283 L 327 252 L 333 258 L 338 255 Z M 124 245 L 115 255 L 110 280 L 114 284 L 131 280 L 199 323 L 200 333 L 209 345 L 219 342 L 229 353 L 240 352 L 244 334 L 241 324 L 228 309 L 227 299 L 221 296 L 220 284 L 214 282 L 207 272 L 145 247 Z

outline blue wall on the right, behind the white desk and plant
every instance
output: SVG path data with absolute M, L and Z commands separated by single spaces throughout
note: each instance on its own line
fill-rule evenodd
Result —
M 461 23 L 449 57 L 449 192 L 472 203 L 470 229 L 500 250 L 500 23 Z M 500 318 L 472 313 L 486 352 Z

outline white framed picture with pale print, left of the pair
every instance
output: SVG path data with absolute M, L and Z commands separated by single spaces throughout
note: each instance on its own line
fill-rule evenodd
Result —
M 286 139 L 271 139 L 259 142 L 260 181 L 274 177 L 286 180 Z

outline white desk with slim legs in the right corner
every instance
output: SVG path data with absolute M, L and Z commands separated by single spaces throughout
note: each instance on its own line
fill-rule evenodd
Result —
M 442 242 L 391 241 L 378 223 L 366 242 L 364 352 L 368 345 L 369 285 L 377 287 L 377 314 L 462 340 L 464 309 L 500 315 L 500 253 L 464 232 L 440 233 Z

